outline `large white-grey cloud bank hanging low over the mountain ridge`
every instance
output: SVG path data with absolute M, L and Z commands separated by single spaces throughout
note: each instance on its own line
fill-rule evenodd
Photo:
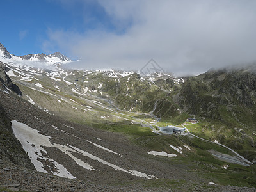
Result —
M 49 30 L 51 44 L 82 58 L 76 67 L 140 70 L 154 58 L 180 75 L 256 61 L 256 1 L 99 1 L 99 6 L 111 17 L 113 31 Z

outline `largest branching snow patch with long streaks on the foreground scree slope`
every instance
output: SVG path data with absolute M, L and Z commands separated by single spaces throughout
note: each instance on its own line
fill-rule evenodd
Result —
M 92 154 L 85 152 L 79 148 L 76 148 L 72 145 L 60 145 L 56 143 L 51 143 L 51 137 L 45 136 L 43 134 L 40 134 L 39 131 L 36 129 L 33 129 L 31 127 L 28 127 L 26 124 L 22 124 L 20 122 L 17 122 L 16 120 L 12 121 L 12 129 L 15 134 L 15 136 L 18 138 L 20 143 L 22 144 L 22 147 L 26 152 L 28 152 L 29 157 L 31 158 L 31 162 L 34 164 L 36 170 L 40 172 L 45 172 L 46 170 L 44 169 L 44 165 L 38 161 L 38 159 L 48 159 L 52 164 L 56 166 L 57 171 L 52 171 L 53 174 L 61 176 L 61 177 L 68 177 L 75 179 L 73 175 L 71 175 L 66 168 L 59 164 L 58 162 L 49 159 L 48 157 L 43 157 L 42 152 L 47 154 L 47 151 L 42 148 L 42 146 L 45 147 L 55 147 L 60 149 L 62 152 L 70 156 L 74 161 L 79 165 L 82 166 L 83 168 L 87 170 L 95 170 L 90 164 L 84 163 L 81 159 L 78 159 L 77 157 L 73 156 L 72 153 L 79 153 L 83 154 L 85 157 L 89 157 L 90 159 L 93 159 L 95 161 L 99 161 L 102 164 L 106 164 L 107 166 L 110 166 L 111 168 L 114 168 L 115 170 L 120 170 L 125 173 L 130 173 L 131 175 L 137 176 L 137 177 L 145 177 L 147 179 L 153 179 L 156 178 L 153 175 L 147 175 L 146 173 L 141 173 L 136 170 L 126 170 L 124 168 L 120 168 L 119 166 L 116 166 L 115 164 L 108 163 L 107 161 L 104 161 L 100 159 L 97 156 L 93 156 Z M 93 144 L 94 145 L 94 144 Z

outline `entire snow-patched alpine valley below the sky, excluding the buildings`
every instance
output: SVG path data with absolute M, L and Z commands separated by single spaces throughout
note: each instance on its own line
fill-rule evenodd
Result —
M 256 191 L 256 64 L 177 78 L 74 62 L 0 44 L 0 191 Z

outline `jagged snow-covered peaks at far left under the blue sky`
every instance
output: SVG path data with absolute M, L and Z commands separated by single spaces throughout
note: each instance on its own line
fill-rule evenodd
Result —
M 10 54 L 3 44 L 0 43 L 0 61 L 9 65 L 26 65 L 31 67 L 56 69 L 58 65 L 71 63 L 72 60 L 60 52 L 53 54 L 28 54 L 24 56 L 15 56 Z

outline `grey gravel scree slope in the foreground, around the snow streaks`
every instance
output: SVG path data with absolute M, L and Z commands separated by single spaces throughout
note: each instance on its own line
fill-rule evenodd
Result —
M 186 178 L 185 184 L 175 185 L 172 189 L 170 185 L 168 187 L 164 184 L 162 188 L 145 188 L 143 183 L 146 179 L 114 170 L 99 161 L 74 153 L 74 156 L 97 169 L 97 171 L 85 170 L 61 150 L 43 147 L 47 151 L 45 156 L 63 164 L 77 179 L 65 179 L 1 161 L 0 186 L 5 188 L 26 191 L 255 191 L 255 188 L 209 185 L 209 180 L 190 172 L 187 165 L 173 164 L 166 157 L 150 156 L 145 149 L 134 145 L 122 134 L 67 122 L 58 116 L 45 113 L 20 97 L 0 93 L 0 101 L 10 120 L 17 120 L 37 129 L 45 136 L 51 136 L 52 143 L 72 145 L 126 170 L 137 170 L 161 179 L 179 181 Z M 58 127 L 58 130 L 52 125 Z M 86 140 L 118 152 L 123 157 L 102 150 Z

